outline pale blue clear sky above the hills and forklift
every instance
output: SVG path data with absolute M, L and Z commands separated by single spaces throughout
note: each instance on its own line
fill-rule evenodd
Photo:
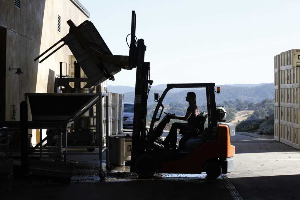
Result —
M 129 54 L 125 38 L 136 11 L 154 85 L 271 83 L 274 56 L 300 49 L 300 1 L 80 2 L 114 55 Z M 134 87 L 135 73 L 122 70 L 107 84 Z

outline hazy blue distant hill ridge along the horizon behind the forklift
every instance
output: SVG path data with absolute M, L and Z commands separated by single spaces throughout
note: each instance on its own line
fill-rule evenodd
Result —
M 217 86 L 216 86 L 217 87 Z M 154 89 L 152 87 L 149 92 L 148 103 L 153 102 L 153 93 L 163 93 L 163 90 Z M 220 85 L 221 93 L 216 94 L 216 103 L 222 104 L 224 101 L 235 101 L 240 99 L 242 101 L 247 100 L 248 102 L 258 103 L 264 99 L 274 98 L 274 83 L 268 83 L 264 85 L 259 85 L 256 87 L 235 87 L 231 85 Z M 176 93 L 167 93 L 164 99 L 164 104 L 170 104 L 171 102 L 184 103 L 186 93 L 191 91 L 190 89 L 184 89 Z M 193 90 L 196 93 L 196 100 L 198 105 L 206 104 L 206 94 L 205 90 Z M 134 91 L 124 93 L 125 102 L 134 102 Z

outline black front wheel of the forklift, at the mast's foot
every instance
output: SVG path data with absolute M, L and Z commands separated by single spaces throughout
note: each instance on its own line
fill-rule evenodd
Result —
M 157 170 L 157 162 L 153 156 L 143 154 L 137 158 L 135 169 L 140 178 L 151 178 Z

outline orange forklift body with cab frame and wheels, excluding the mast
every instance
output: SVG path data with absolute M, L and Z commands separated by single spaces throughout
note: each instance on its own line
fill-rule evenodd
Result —
M 147 135 L 143 132 L 145 135 L 133 139 L 135 157 L 131 157 L 131 172 L 136 172 L 141 178 L 150 178 L 155 173 L 202 172 L 206 172 L 207 178 L 217 178 L 221 173 L 234 171 L 235 147 L 230 143 L 230 136 L 234 136 L 235 128 L 233 124 L 224 123 L 226 111 L 223 107 L 216 107 L 214 86 L 214 83 L 168 84 L 160 98 L 155 95 L 158 103 L 149 130 L 146 130 Z M 172 149 L 164 148 L 159 137 L 172 118 L 170 113 L 165 113 L 160 121 L 164 97 L 173 88 L 205 88 L 208 112 L 203 111 L 197 116 L 199 125 L 195 130 L 180 130 L 183 137 L 179 146 Z M 208 127 L 204 127 L 206 119 Z M 154 127 L 156 121 L 160 123 Z

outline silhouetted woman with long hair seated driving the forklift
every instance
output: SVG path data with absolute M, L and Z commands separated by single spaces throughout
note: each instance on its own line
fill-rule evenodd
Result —
M 182 117 L 175 116 L 174 114 L 169 115 L 169 117 L 171 119 L 187 121 L 187 123 L 174 122 L 172 124 L 169 134 L 162 142 L 165 148 L 176 148 L 177 129 L 192 131 L 196 127 L 196 116 L 199 115 L 199 110 L 196 104 L 196 94 L 194 92 L 188 92 L 185 100 L 189 103 L 186 114 Z

